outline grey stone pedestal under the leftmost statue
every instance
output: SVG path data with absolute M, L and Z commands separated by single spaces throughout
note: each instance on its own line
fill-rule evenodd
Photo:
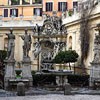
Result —
M 9 79 L 15 78 L 15 60 L 5 60 L 5 76 L 4 76 L 4 86 L 5 89 L 9 86 Z

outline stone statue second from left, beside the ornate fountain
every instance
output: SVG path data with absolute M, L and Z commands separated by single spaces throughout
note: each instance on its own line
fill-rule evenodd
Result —
M 29 51 L 31 49 L 31 35 L 28 35 L 27 30 L 25 30 L 25 35 L 21 36 L 21 38 L 24 40 L 23 45 L 23 57 L 29 57 Z

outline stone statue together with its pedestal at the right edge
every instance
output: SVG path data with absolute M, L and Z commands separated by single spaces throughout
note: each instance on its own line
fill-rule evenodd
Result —
M 99 24 L 96 31 L 100 31 Z M 100 82 L 100 33 L 95 34 L 94 39 L 94 59 L 91 62 L 90 67 L 90 87 L 95 86 L 95 82 Z

